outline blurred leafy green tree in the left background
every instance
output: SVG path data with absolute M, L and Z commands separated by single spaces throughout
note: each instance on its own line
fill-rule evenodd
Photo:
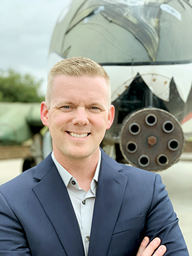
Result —
M 0 101 L 8 102 L 41 102 L 39 94 L 42 81 L 36 81 L 29 74 L 21 75 L 13 69 L 0 71 Z

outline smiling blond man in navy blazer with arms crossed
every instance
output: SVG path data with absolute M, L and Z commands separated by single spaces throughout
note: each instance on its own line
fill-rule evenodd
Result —
M 110 99 L 94 61 L 73 57 L 51 69 L 41 120 L 53 152 L 1 186 L 0 255 L 150 256 L 160 239 L 167 255 L 188 255 L 160 175 L 99 149 L 115 115 Z M 159 238 L 147 246 L 146 236 Z

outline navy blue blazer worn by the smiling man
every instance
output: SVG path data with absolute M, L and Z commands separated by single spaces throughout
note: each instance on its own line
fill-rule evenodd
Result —
M 89 256 L 136 255 L 147 235 L 165 255 L 187 256 L 161 176 L 121 165 L 102 151 Z M 83 256 L 67 189 L 49 155 L 0 187 L 1 256 Z

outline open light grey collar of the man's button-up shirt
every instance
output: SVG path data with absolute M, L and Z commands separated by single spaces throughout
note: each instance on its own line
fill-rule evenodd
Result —
M 60 163 L 55 159 L 53 152 L 51 153 L 51 157 L 57 167 L 57 170 L 59 172 L 59 175 L 61 176 L 61 179 L 63 179 L 63 182 L 65 183 L 65 186 L 67 187 L 70 179 L 71 178 L 75 179 L 75 178 L 62 165 L 60 165 Z M 94 181 L 98 182 L 100 166 L 101 166 L 101 149 L 99 149 L 99 161 L 97 163 L 95 175 L 93 177 L 93 180 L 91 181 L 91 190 L 95 190 L 95 186 L 93 184 L 94 184 Z

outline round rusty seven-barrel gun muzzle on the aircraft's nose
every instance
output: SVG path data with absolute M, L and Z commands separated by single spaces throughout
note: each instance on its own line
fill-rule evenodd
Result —
M 171 113 L 157 108 L 135 111 L 123 122 L 120 149 L 131 165 L 147 171 L 163 171 L 179 160 L 184 136 Z

